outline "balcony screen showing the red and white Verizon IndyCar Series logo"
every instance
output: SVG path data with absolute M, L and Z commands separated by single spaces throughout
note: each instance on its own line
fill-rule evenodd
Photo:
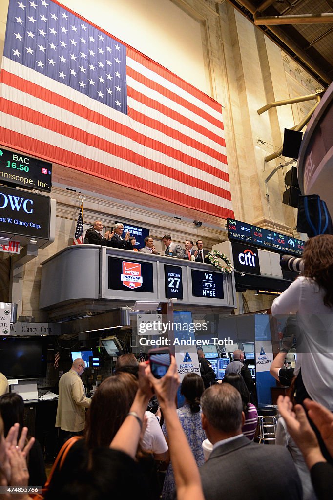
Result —
M 152 264 L 108 257 L 108 288 L 153 293 Z

